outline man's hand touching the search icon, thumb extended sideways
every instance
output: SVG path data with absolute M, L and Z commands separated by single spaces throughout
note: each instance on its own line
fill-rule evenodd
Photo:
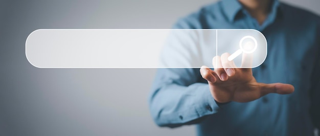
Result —
M 257 83 L 252 74 L 252 69 L 230 68 L 236 67 L 236 65 L 233 61 L 227 60 L 228 56 L 230 54 L 224 53 L 221 57 L 213 58 L 214 71 L 207 66 L 202 66 L 200 69 L 201 76 L 208 81 L 211 94 L 218 103 L 229 101 L 244 103 L 258 99 L 268 93 L 289 94 L 294 91 L 294 87 L 290 84 Z M 243 54 L 242 65 L 250 63 L 247 54 Z

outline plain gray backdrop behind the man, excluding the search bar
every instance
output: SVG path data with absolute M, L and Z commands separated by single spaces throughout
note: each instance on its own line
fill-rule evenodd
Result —
M 0 1 L 0 135 L 194 135 L 157 127 L 155 69 L 37 69 L 25 40 L 39 28 L 170 28 L 210 0 Z M 286 0 L 320 15 L 318 0 Z

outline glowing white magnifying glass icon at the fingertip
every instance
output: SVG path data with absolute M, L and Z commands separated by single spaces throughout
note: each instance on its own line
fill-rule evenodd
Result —
M 257 40 L 252 36 L 245 36 L 239 42 L 240 49 L 228 57 L 229 61 L 234 60 L 242 52 L 250 54 L 256 51 L 258 43 Z

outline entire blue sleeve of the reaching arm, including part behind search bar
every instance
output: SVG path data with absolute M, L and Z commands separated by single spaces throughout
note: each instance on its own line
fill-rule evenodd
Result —
M 174 28 L 191 28 L 180 20 Z M 202 63 L 196 33 L 190 31 L 170 32 L 161 55 L 162 67 L 194 67 Z M 202 79 L 200 69 L 160 68 L 157 70 L 149 109 L 159 126 L 177 127 L 199 123 L 206 115 L 214 114 L 220 107 L 210 93 L 207 81 Z

